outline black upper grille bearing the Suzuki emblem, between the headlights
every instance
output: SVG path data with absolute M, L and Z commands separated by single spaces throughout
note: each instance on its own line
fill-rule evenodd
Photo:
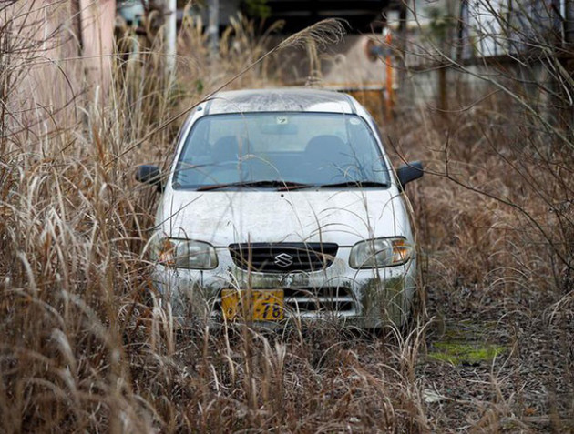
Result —
M 243 243 L 230 245 L 237 267 L 261 273 L 320 271 L 333 264 L 334 243 Z

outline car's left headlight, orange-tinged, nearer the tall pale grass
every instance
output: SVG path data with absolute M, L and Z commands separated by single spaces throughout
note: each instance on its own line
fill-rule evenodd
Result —
M 161 238 L 151 248 L 151 258 L 176 268 L 213 269 L 218 265 L 213 246 L 189 239 Z

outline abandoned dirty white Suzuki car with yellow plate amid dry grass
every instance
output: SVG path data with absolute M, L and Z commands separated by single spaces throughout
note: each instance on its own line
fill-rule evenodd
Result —
M 402 325 L 417 275 L 403 187 L 422 175 L 395 176 L 351 96 L 221 92 L 188 117 L 169 173 L 138 167 L 161 192 L 156 288 L 182 322 Z

